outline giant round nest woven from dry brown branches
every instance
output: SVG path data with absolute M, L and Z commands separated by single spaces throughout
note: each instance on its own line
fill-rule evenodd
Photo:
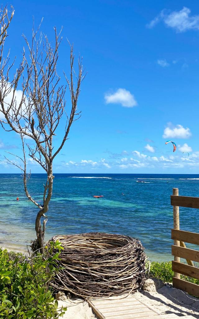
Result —
M 51 283 L 83 298 L 130 293 L 145 280 L 146 255 L 138 239 L 117 234 L 58 235 L 59 270 Z M 56 251 L 54 251 L 56 252 Z

